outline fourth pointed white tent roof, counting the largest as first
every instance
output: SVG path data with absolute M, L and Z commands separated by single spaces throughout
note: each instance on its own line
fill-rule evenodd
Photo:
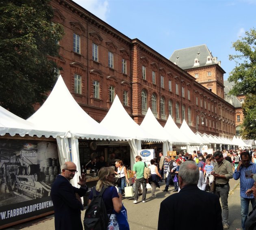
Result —
M 171 144 L 189 144 L 190 139 L 184 138 L 184 135 L 180 132 L 180 129 L 175 124 L 171 115 L 169 115 L 167 122 L 165 123 L 164 130 L 169 134 L 169 140 Z

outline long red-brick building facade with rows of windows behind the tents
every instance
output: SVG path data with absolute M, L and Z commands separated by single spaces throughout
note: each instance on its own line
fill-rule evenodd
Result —
M 52 0 L 54 19 L 65 29 L 59 65 L 67 88 L 100 122 L 118 95 L 126 112 L 141 124 L 148 107 L 164 126 L 169 114 L 200 133 L 232 138 L 234 106 L 224 100 L 223 69 L 214 65 L 212 90 L 139 39 L 130 39 L 71 0 Z M 222 82 L 218 77 L 222 74 Z M 209 84 L 209 82 L 207 81 Z M 214 92 L 219 92 L 214 93 Z M 204 121 L 202 125 L 201 116 Z

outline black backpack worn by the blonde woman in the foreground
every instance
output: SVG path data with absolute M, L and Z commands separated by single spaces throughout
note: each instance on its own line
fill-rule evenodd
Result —
M 102 199 L 105 189 L 105 187 L 102 187 L 99 195 L 96 195 L 95 187 L 92 189 L 93 198 L 85 211 L 85 230 L 106 230 L 108 227 L 109 218 Z

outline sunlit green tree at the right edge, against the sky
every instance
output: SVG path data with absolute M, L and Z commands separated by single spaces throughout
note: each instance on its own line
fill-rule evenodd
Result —
M 245 32 L 245 37 L 232 44 L 237 54 L 229 59 L 236 62 L 230 72 L 229 82 L 234 82 L 230 95 L 245 95 L 243 103 L 243 138 L 256 139 L 256 30 Z

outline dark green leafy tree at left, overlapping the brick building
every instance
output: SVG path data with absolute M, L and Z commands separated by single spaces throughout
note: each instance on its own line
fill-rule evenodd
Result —
M 42 104 L 56 82 L 63 26 L 53 23 L 50 0 L 0 1 L 0 105 L 22 118 Z

